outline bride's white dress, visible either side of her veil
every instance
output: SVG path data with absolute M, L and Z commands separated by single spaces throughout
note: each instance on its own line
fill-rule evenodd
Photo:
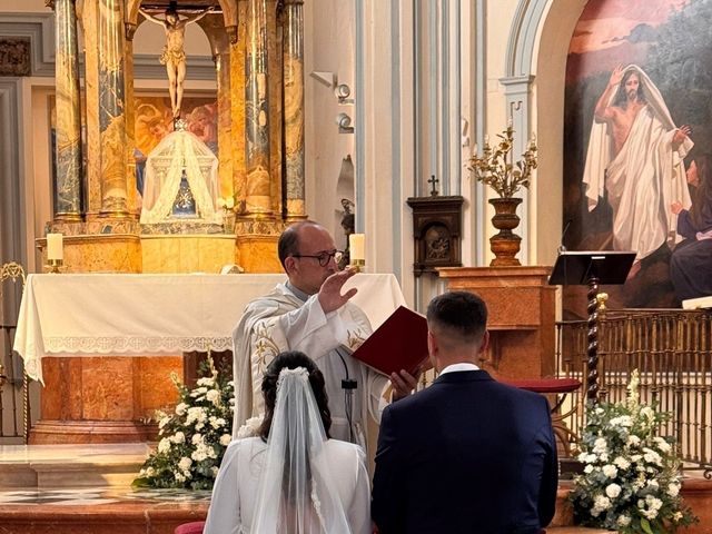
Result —
M 257 487 L 267 456 L 266 451 L 267 444 L 259 437 L 230 443 L 215 481 L 205 534 L 250 532 L 257 505 Z M 358 445 L 327 439 L 320 454 L 325 455 L 325 463 L 329 466 L 329 475 L 346 513 L 349 532 L 369 534 L 372 532 L 370 488 L 364 451 Z M 329 532 L 328 534 L 348 533 Z

